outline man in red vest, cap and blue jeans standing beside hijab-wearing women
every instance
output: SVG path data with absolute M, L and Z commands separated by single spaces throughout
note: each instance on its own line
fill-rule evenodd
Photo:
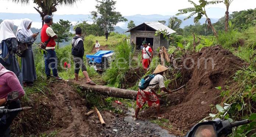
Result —
M 58 76 L 58 70 L 57 70 L 57 56 L 55 52 L 55 46 L 56 42 L 55 39 L 58 39 L 58 36 L 54 33 L 53 29 L 50 27 L 53 24 L 53 19 L 51 16 L 46 15 L 44 17 L 45 25 L 43 25 L 42 31 L 41 31 L 41 40 L 42 42 L 46 42 L 50 40 L 47 45 L 46 49 L 43 52 L 45 57 L 45 73 L 46 76 L 54 77 L 57 80 L 62 80 L 61 77 Z M 53 76 L 51 76 L 51 69 L 53 71 Z

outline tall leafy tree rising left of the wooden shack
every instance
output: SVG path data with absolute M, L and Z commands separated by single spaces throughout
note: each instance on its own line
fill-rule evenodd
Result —
M 114 30 L 114 26 L 118 22 L 127 21 L 126 18 L 122 17 L 120 12 L 115 11 L 116 1 L 114 0 L 96 0 L 97 5 L 95 6 L 97 11 L 92 11 L 92 18 L 94 22 L 100 25 L 104 30 Z

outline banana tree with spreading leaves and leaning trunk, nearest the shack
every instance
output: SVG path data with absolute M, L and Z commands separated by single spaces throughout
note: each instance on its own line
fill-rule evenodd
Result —
M 206 10 L 205 10 L 205 6 L 210 5 L 210 4 L 217 4 L 217 3 L 221 3 L 222 1 L 218 1 L 218 0 L 214 0 L 214 1 L 206 1 L 206 0 L 199 0 L 199 5 L 197 5 L 196 3 L 194 3 L 191 0 L 188 0 L 188 2 L 190 2 L 191 4 L 193 4 L 194 7 L 191 8 L 184 8 L 181 10 L 178 10 L 179 13 L 176 14 L 181 15 L 181 14 L 187 14 L 192 12 L 190 15 L 188 15 L 188 17 L 184 18 L 184 20 L 189 19 L 191 17 L 193 17 L 195 14 L 197 14 L 196 17 L 194 17 L 194 22 L 197 23 L 200 21 L 200 19 L 205 16 L 206 17 L 206 21 L 205 23 L 207 24 L 207 29 L 212 29 L 214 36 L 216 36 L 216 38 L 218 38 L 218 34 L 216 32 L 216 30 L 213 27 L 213 24 L 211 23 L 211 19 L 207 16 L 206 14 Z

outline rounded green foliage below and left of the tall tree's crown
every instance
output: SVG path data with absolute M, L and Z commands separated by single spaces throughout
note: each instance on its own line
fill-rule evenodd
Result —
M 94 36 L 103 36 L 104 31 L 102 28 L 100 28 L 99 25 L 93 23 L 93 24 L 88 24 L 86 21 L 83 21 L 82 23 L 79 23 L 75 25 L 74 30 L 80 27 L 82 28 L 82 35 L 83 36 L 89 36 L 89 35 L 94 35 Z

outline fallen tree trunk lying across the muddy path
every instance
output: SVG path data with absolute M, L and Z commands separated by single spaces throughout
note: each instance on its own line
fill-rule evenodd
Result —
M 78 84 L 72 82 L 71 80 L 65 80 L 68 84 Z M 101 85 L 90 85 L 90 84 L 79 84 L 82 91 L 94 91 L 96 93 L 110 96 L 110 97 L 118 97 L 118 98 L 125 98 L 125 99 L 132 99 L 136 100 L 136 95 L 138 91 L 134 90 L 126 90 L 126 89 L 118 89 L 115 87 L 106 87 Z

